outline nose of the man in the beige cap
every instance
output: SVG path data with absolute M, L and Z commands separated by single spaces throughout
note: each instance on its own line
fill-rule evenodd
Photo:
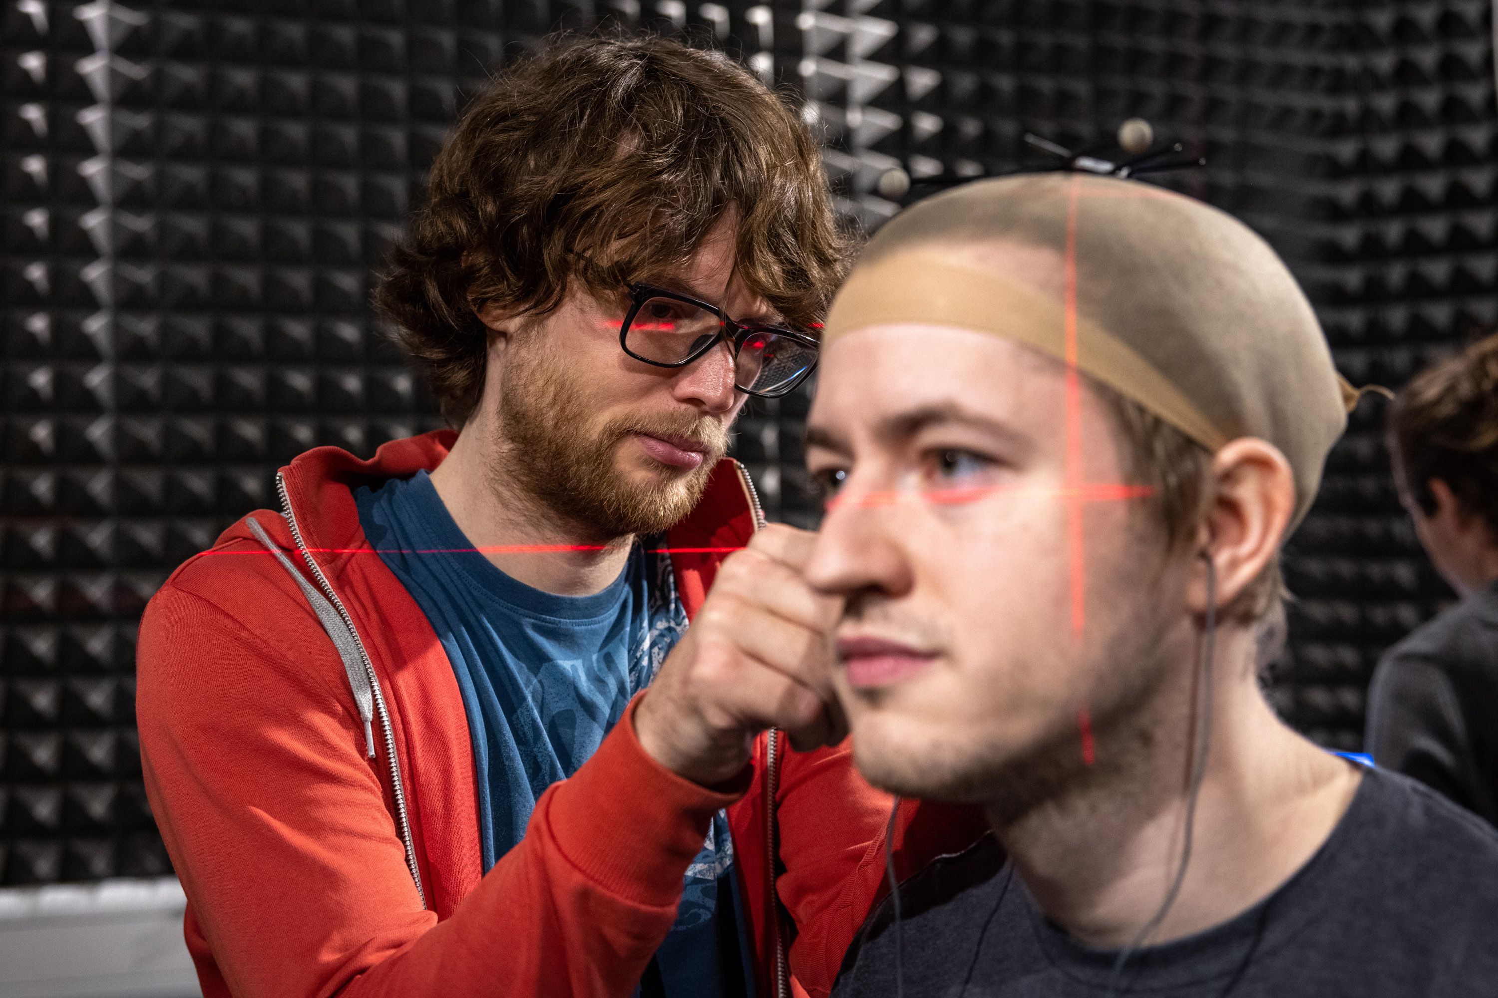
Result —
M 915 573 L 905 531 L 896 522 L 902 504 L 876 501 L 878 494 L 867 489 L 855 492 L 852 485 L 849 479 L 822 518 L 804 567 L 806 581 L 828 596 L 905 596 L 914 585 Z

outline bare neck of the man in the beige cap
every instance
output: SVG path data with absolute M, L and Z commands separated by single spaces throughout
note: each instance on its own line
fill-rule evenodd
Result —
M 1219 630 L 1216 645 L 1212 744 L 1191 862 L 1147 944 L 1219 925 L 1272 893 L 1332 833 L 1360 780 L 1264 703 L 1248 628 Z M 1122 736 L 1129 748 L 1121 751 L 1134 754 L 1126 766 L 1100 771 L 1088 786 L 1013 821 L 995 821 L 1046 914 L 1095 947 L 1131 944 L 1179 869 L 1197 693 L 1189 679 L 1167 685 Z M 1140 739 L 1140 730 L 1155 736 Z M 1100 765 L 1107 751 L 1100 733 Z

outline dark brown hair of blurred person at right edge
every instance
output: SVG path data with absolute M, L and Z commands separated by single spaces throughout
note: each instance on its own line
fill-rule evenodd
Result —
M 1399 486 L 1435 515 L 1431 479 L 1498 537 L 1498 334 L 1416 374 L 1389 408 Z

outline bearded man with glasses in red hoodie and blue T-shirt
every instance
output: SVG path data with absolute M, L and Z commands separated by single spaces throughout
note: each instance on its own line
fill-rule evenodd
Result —
M 205 995 L 827 992 L 890 798 L 836 748 L 810 537 L 724 452 L 846 248 L 719 55 L 553 45 L 472 103 L 377 290 L 458 432 L 301 455 L 141 625 Z

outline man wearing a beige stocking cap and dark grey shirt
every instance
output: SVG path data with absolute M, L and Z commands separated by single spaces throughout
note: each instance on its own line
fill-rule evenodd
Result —
M 1356 399 L 1275 253 L 1100 177 L 890 221 L 827 320 L 806 578 L 858 768 L 984 806 L 834 995 L 1498 994 L 1498 835 L 1285 727 L 1278 554 Z

